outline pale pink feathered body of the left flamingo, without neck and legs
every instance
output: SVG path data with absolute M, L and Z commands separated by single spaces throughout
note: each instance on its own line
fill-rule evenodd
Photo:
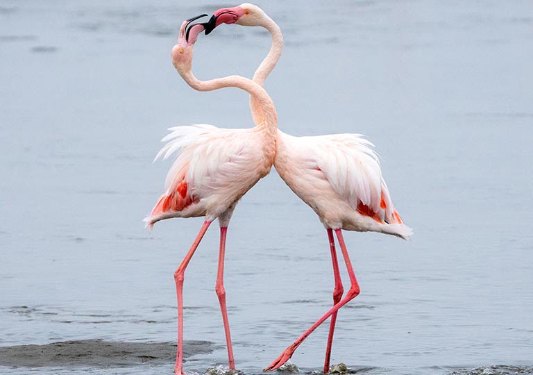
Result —
M 269 174 L 276 147 L 260 128 L 176 126 L 155 159 L 177 154 L 147 226 L 171 217 L 220 217 Z

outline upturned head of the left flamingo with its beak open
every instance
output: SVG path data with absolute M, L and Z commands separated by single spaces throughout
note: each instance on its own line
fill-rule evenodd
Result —
M 207 23 L 193 24 L 196 19 L 205 17 L 207 15 L 199 15 L 187 19 L 181 24 L 180 36 L 178 37 L 178 43 L 174 46 L 171 52 L 172 64 L 180 74 L 190 69 L 192 62 L 192 51 L 198 34 L 205 30 Z

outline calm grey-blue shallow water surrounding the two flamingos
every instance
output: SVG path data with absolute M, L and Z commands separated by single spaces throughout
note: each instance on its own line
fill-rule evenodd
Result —
M 169 126 L 253 122 L 246 93 L 195 92 L 170 50 L 183 19 L 236 5 L 1 2 L 1 347 L 176 340 L 173 273 L 202 220 L 144 230 L 170 165 L 153 156 Z M 530 373 L 531 1 L 257 5 L 285 37 L 265 85 L 280 128 L 366 135 L 415 231 L 409 242 L 345 234 L 362 293 L 339 312 L 332 363 L 369 374 Z M 194 72 L 251 77 L 269 46 L 262 29 L 221 26 L 198 38 Z M 187 360 L 191 373 L 226 364 L 217 252 L 214 225 L 185 276 L 185 340 L 213 349 Z M 274 170 L 237 206 L 225 285 L 246 374 L 332 304 L 326 233 Z M 301 372 L 321 369 L 327 335 L 326 322 L 298 348 Z M 171 374 L 173 365 L 0 373 Z

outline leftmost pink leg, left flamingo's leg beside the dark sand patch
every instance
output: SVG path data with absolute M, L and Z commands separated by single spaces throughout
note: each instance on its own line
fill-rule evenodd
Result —
M 189 252 L 180 264 L 180 267 L 174 272 L 174 281 L 176 281 L 176 294 L 178 295 L 178 350 L 176 351 L 176 365 L 174 365 L 174 373 L 176 375 L 185 375 L 183 372 L 183 280 L 185 275 L 185 268 L 189 264 L 194 251 L 200 244 L 200 241 L 208 231 L 211 222 L 203 222 L 203 226 L 200 229 L 200 233 L 196 236 L 196 239 L 192 243 Z

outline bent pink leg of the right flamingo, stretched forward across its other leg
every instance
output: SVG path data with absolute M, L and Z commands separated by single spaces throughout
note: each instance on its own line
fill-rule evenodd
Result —
M 335 233 L 337 234 L 337 239 L 339 240 L 339 245 L 341 246 L 342 255 L 344 256 L 344 262 L 346 263 L 346 268 L 348 269 L 348 276 L 350 276 L 350 290 L 348 290 L 346 296 L 344 296 L 341 301 L 335 303 L 335 306 L 333 306 L 333 308 L 331 308 L 328 313 L 322 315 L 319 320 L 317 320 L 307 331 L 305 331 L 303 335 L 298 338 L 298 340 L 293 342 L 291 346 L 285 349 L 285 351 L 281 353 L 281 356 L 276 358 L 276 360 L 274 360 L 274 362 L 271 363 L 269 367 L 264 369 L 264 371 L 272 371 L 287 362 L 287 360 L 291 358 L 296 348 L 303 342 L 303 340 L 307 338 L 307 336 L 309 336 L 316 329 L 316 327 L 320 326 L 325 321 L 325 319 L 328 319 L 328 317 L 333 315 L 333 313 L 337 312 L 339 308 L 346 305 L 348 301 L 354 299 L 359 294 L 359 284 L 357 283 L 357 278 L 355 278 L 355 273 L 353 272 L 352 263 L 350 262 L 350 257 L 348 256 L 348 250 L 346 250 L 346 244 L 344 244 L 344 238 L 342 238 L 342 231 L 341 229 L 335 229 Z

